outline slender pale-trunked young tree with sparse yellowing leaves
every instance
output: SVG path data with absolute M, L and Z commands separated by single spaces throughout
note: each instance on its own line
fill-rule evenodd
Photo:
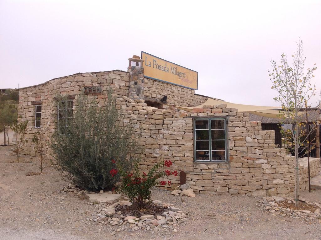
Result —
M 281 133 L 288 147 L 295 153 L 295 201 L 299 201 L 299 151 L 304 151 L 310 144 L 308 136 L 315 129 L 312 127 L 306 131 L 306 123 L 300 120 L 301 111 L 306 102 L 316 93 L 315 84 L 311 83 L 313 73 L 317 69 L 316 64 L 305 70 L 305 57 L 303 57 L 303 42 L 297 42 L 297 51 L 292 55 L 292 66 L 288 63 L 287 56 L 281 55 L 280 64 L 271 59 L 272 70 L 269 70 L 272 89 L 279 93 L 274 100 L 281 103 L 284 122 L 291 124 L 294 128 L 282 129 Z M 310 106 L 309 106 L 310 107 Z M 300 148 L 301 147 L 301 148 Z M 303 150 L 302 150 L 303 149 Z

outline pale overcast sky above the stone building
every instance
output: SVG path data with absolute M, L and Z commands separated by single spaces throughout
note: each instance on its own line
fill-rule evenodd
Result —
M 145 51 L 197 71 L 196 93 L 278 106 L 271 58 L 300 37 L 306 66 L 321 69 L 321 1 L 211 2 L 0 0 L 0 88 L 126 70 Z

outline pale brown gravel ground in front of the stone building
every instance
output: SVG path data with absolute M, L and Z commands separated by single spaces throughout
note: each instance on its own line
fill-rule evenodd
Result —
M 196 194 L 175 197 L 169 191 L 152 191 L 153 200 L 173 203 L 187 215 L 178 233 L 121 231 L 109 225 L 84 223 L 96 207 L 65 193 L 68 184 L 52 167 L 38 172 L 38 161 L 22 156 L 13 162 L 10 147 L 0 147 L 0 239 L 321 239 L 321 220 L 304 221 L 274 216 L 258 206 L 260 198 Z M 321 191 L 301 192 L 321 203 Z M 82 213 L 84 211 L 84 213 Z

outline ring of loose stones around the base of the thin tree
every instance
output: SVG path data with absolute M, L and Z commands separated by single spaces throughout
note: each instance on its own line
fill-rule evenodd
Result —
M 321 218 L 320 213 L 320 204 L 318 203 L 310 203 L 304 199 L 300 199 L 301 202 L 305 202 L 308 206 L 316 208 L 314 212 L 310 210 L 295 210 L 284 208 L 281 206 L 280 202 L 287 201 L 287 203 L 295 203 L 295 200 L 292 198 L 282 198 L 282 197 L 264 197 L 259 202 L 259 206 L 263 207 L 266 211 L 278 215 L 281 217 L 290 217 L 290 218 L 301 218 L 305 220 L 315 220 Z

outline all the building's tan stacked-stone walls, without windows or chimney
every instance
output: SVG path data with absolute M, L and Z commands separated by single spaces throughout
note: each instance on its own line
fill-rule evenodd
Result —
M 198 105 L 206 99 L 193 95 L 194 92 L 178 86 L 147 79 L 144 84 L 145 96 L 152 97 L 165 94 L 168 102 L 175 105 L 189 103 Z M 33 101 L 41 102 L 41 130 L 48 142 L 54 132 L 57 120 L 55 97 L 75 95 L 83 86 L 101 86 L 102 94 L 92 95 L 98 105 L 103 106 L 108 90 L 112 88 L 116 97 L 117 109 L 122 112 L 123 125 L 129 122 L 136 128 L 135 137 L 144 146 L 140 169 L 148 172 L 156 162 L 171 160 L 171 170 L 187 173 L 187 182 L 195 192 L 210 194 L 248 194 L 286 196 L 293 192 L 295 185 L 295 161 L 285 154 L 285 149 L 276 148 L 274 131 L 263 131 L 261 122 L 249 121 L 249 114 L 227 108 L 226 104 L 194 108 L 193 112 L 171 109 L 157 109 L 138 103 L 128 98 L 129 75 L 127 72 L 110 71 L 99 73 L 79 73 L 72 76 L 56 78 L 45 84 L 20 89 L 19 115 L 22 120 L 29 120 L 22 153 L 35 155 L 32 136 L 38 129 L 34 128 L 35 106 Z M 154 88 L 154 89 L 153 89 Z M 161 88 L 161 87 L 160 87 Z M 185 94 L 186 93 L 186 94 Z M 193 94 L 192 94 L 193 93 Z M 152 95 L 155 94 L 155 95 Z M 191 95 L 190 95 L 191 94 Z M 197 163 L 194 161 L 193 118 L 227 117 L 229 159 L 226 163 Z M 51 150 L 46 147 L 47 157 Z M 312 174 L 320 171 L 320 161 L 315 161 Z M 172 188 L 179 184 L 178 176 L 169 176 Z M 305 185 L 306 172 L 302 169 L 302 186 Z

